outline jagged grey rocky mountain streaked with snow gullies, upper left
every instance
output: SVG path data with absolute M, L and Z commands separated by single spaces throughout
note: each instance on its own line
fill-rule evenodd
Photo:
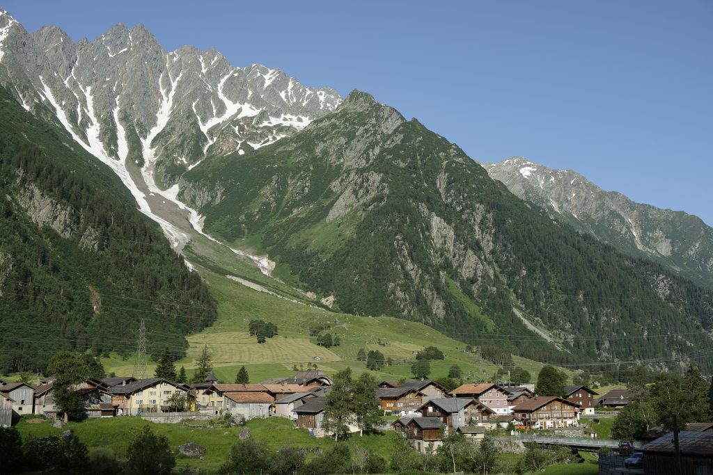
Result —
M 277 69 L 234 68 L 215 50 L 168 53 L 141 25 L 73 43 L 56 26 L 28 33 L 2 10 L 0 85 L 111 167 L 179 251 L 195 217 L 175 200 L 180 174 L 291 135 L 341 101 Z

